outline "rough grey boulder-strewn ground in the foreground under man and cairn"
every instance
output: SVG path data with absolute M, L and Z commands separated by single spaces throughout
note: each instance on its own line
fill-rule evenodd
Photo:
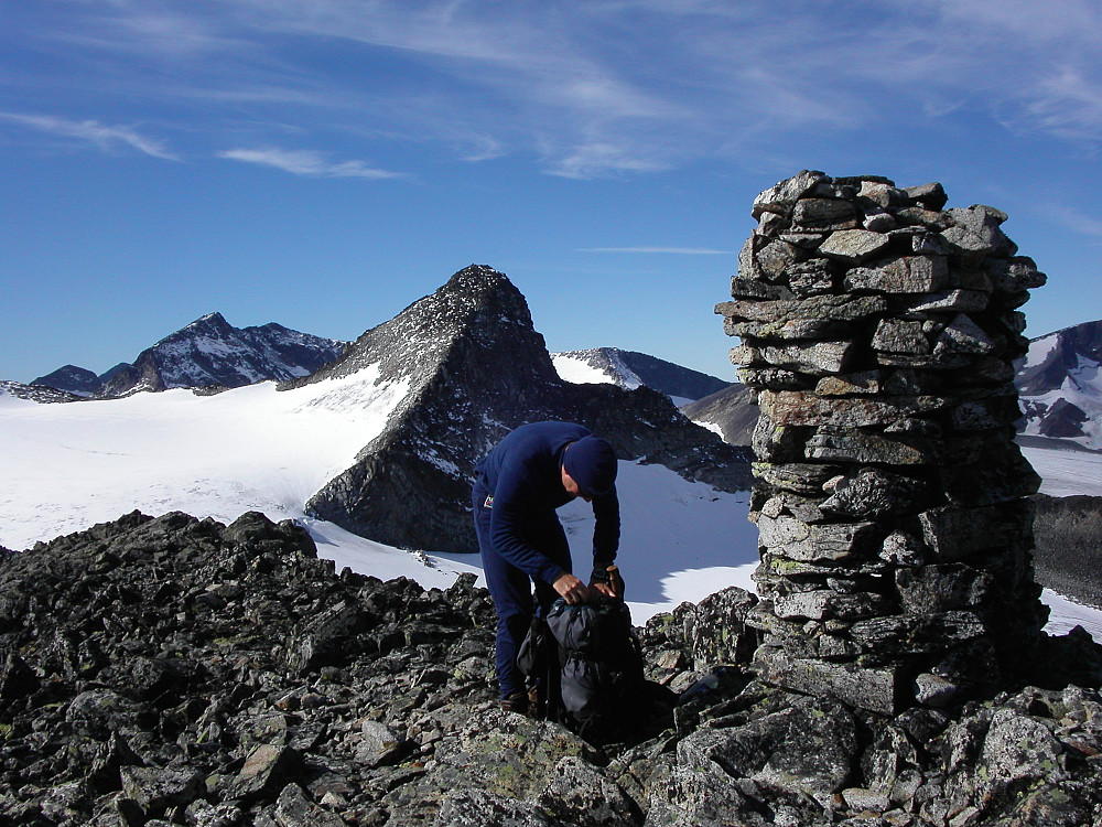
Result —
M 0 825 L 1102 819 L 1085 635 L 1048 641 L 1034 686 L 889 719 L 756 680 L 753 603 L 732 589 L 639 630 L 669 701 L 590 744 L 496 708 L 471 579 L 336 574 L 258 514 L 134 513 L 0 552 Z

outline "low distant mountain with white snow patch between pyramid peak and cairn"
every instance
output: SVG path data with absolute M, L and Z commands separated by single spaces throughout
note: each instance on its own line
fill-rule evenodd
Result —
M 618 347 L 552 353 L 551 361 L 564 382 L 580 385 L 611 383 L 629 390 L 645 385 L 666 394 L 679 407 L 723 390 L 731 384 L 646 353 Z

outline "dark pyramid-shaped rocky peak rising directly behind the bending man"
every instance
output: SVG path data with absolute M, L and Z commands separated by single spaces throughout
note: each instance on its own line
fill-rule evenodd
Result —
M 573 385 L 554 370 L 528 303 L 505 275 L 482 265 L 367 331 L 313 376 L 378 366 L 408 391 L 356 463 L 307 503 L 310 513 L 402 548 L 475 551 L 471 477 L 512 428 L 575 421 L 620 459 L 646 458 L 724 491 L 749 487 L 744 453 L 690 422 L 667 396 L 639 387 Z

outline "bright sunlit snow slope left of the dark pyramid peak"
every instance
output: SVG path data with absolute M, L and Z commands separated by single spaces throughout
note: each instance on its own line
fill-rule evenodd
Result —
M 0 545 L 25 548 L 134 508 L 302 517 L 406 396 L 404 383 L 376 385 L 377 373 L 283 393 L 267 382 L 68 405 L 0 397 Z

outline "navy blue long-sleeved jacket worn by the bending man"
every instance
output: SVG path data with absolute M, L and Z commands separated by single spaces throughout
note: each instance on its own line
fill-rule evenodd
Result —
M 477 483 L 494 498 L 490 541 L 506 560 L 531 577 L 551 583 L 562 569 L 525 539 L 529 517 L 545 517 L 573 497 L 562 486 L 566 445 L 590 431 L 571 422 L 523 425 L 503 439 L 475 466 Z M 594 566 L 607 566 L 619 547 L 619 501 L 616 488 L 593 498 Z

